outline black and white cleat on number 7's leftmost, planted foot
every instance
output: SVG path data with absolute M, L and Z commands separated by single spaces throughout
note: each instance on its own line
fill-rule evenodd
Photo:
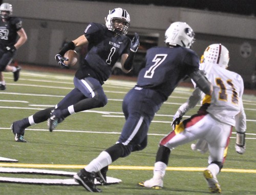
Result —
M 94 172 L 87 172 L 84 168 L 80 172 L 74 175 L 74 179 L 81 186 L 86 188 L 90 192 L 101 192 L 101 189 L 97 188 L 94 184 L 96 174 Z

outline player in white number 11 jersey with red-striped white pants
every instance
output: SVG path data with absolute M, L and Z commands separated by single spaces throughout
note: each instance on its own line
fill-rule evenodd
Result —
M 209 45 L 204 52 L 204 63 L 200 66 L 206 72 L 206 77 L 214 85 L 214 92 L 205 95 L 197 114 L 183 120 L 182 116 L 193 108 L 203 94 L 196 88 L 187 102 L 174 115 L 174 131 L 160 141 L 156 155 L 154 176 L 152 179 L 140 182 L 139 185 L 154 189 L 163 187 L 163 177 L 172 149 L 178 145 L 199 139 L 208 143 L 208 167 L 203 175 L 209 190 L 221 193 L 217 175 L 226 157 L 232 127 L 237 130 L 236 151 L 245 152 L 246 115 L 242 95 L 243 79 L 235 72 L 227 70 L 229 53 L 221 44 Z M 199 144 L 199 143 L 198 143 Z

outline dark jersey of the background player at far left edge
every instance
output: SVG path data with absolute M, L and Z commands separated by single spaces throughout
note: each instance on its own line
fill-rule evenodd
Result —
M 9 17 L 5 22 L 0 19 L 0 47 L 14 45 L 17 41 L 17 31 L 22 29 L 22 20 L 17 17 Z

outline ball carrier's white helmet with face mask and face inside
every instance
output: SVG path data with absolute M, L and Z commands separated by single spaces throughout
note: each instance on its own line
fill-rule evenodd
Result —
M 130 15 L 122 8 L 110 10 L 105 18 L 106 27 L 117 34 L 126 35 L 130 26 Z

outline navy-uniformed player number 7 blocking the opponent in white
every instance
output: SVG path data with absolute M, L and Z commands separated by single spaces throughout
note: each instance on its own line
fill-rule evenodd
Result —
M 152 47 L 146 54 L 146 65 L 140 70 L 137 85 L 123 100 L 125 124 L 118 141 L 101 152 L 74 179 L 91 192 L 98 192 L 94 179 L 104 183 L 108 165 L 147 145 L 147 131 L 155 113 L 172 94 L 178 83 L 189 76 L 206 94 L 212 85 L 199 70 L 199 58 L 189 48 L 194 32 L 185 22 L 174 22 L 165 32 L 165 47 Z

